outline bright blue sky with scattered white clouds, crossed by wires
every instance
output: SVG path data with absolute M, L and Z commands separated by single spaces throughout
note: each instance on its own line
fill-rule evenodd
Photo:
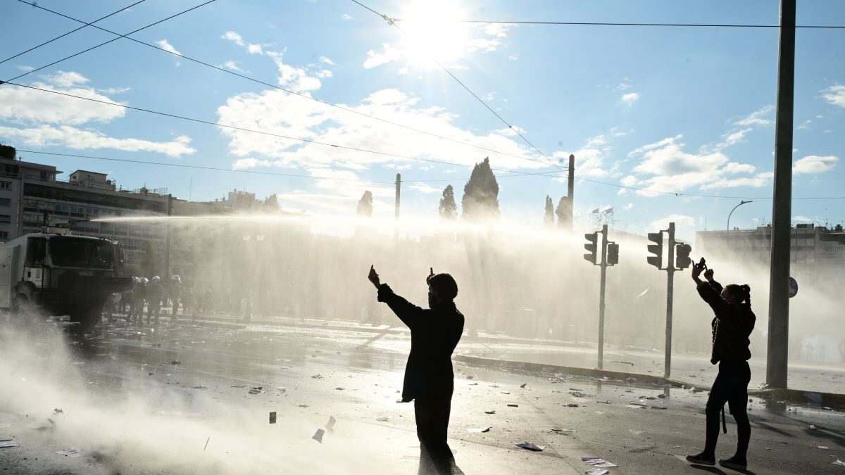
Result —
M 93 20 L 132 2 L 39 5 Z M 147 0 L 98 25 L 125 33 L 201 2 Z M 455 25 L 440 19 L 777 24 L 778 2 L 393 2 L 368 0 L 408 35 L 350 1 L 217 0 L 140 31 L 140 41 L 173 49 L 287 90 L 506 154 L 437 139 L 258 85 L 126 39 L 18 79 L 104 101 L 337 145 L 494 168 L 552 168 L 430 60 L 437 57 L 554 160 L 575 153 L 579 177 L 681 194 L 771 197 L 777 73 L 776 29 Z M 799 2 L 799 25 L 845 25 L 837 0 Z M 79 26 L 8 0 L 0 4 L 6 58 Z M 10 79 L 113 35 L 87 27 L 0 64 Z M 842 196 L 845 30 L 799 30 L 795 86 L 793 196 Z M 166 187 L 180 198 L 215 199 L 232 188 L 313 213 L 352 213 L 364 189 L 375 212 L 392 216 L 395 173 L 406 183 L 403 212 L 434 216 L 440 190 L 462 193 L 468 167 L 308 145 L 210 125 L 98 106 L 0 86 L 0 141 L 42 150 L 139 161 L 309 175 L 235 172 L 59 158 L 20 153 L 65 172 L 101 170 L 124 188 Z M 538 162 L 540 161 L 540 162 Z M 510 175 L 512 172 L 498 172 Z M 387 183 L 329 181 L 344 177 Z M 557 203 L 565 179 L 499 180 L 505 219 L 542 223 L 545 196 Z M 845 220 L 845 200 L 796 200 L 795 222 Z M 578 181 L 575 211 L 613 206 L 616 228 L 646 232 L 668 219 L 691 237 L 724 227 L 738 199 L 622 190 Z M 670 217 L 671 216 L 671 217 Z M 732 224 L 771 219 L 755 199 Z M 756 220 L 756 221 L 755 221 Z

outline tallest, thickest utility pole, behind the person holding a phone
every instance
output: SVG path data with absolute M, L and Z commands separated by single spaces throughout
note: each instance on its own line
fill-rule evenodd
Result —
M 789 234 L 792 213 L 793 107 L 795 90 L 795 0 L 781 0 L 775 117 L 775 177 L 771 210 L 769 341 L 766 382 L 787 387 L 789 344 Z

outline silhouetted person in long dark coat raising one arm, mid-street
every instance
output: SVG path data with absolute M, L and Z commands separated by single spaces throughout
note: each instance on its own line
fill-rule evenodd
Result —
M 464 316 L 455 307 L 455 279 L 434 274 L 428 283 L 428 308 L 420 308 L 396 295 L 371 266 L 369 281 L 379 289 L 379 302 L 411 329 L 411 353 L 405 367 L 402 402 L 414 401 L 417 439 L 420 441 L 419 474 L 463 473 L 446 442 L 455 374 L 452 352 L 464 331 Z

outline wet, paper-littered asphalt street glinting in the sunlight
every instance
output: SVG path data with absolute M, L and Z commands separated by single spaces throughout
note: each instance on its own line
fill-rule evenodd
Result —
M 19 446 L 0 448 L 0 473 L 417 470 L 413 407 L 396 402 L 407 334 L 186 319 L 60 330 L 3 332 L 0 440 Z M 704 391 L 455 363 L 450 446 L 466 473 L 584 473 L 585 456 L 618 465 L 612 474 L 731 473 L 681 460 L 703 445 L 705 401 Z M 845 414 L 749 407 L 749 472 L 845 473 L 834 463 L 845 460 Z M 717 456 L 733 454 L 735 432 L 728 416 Z M 68 448 L 80 456 L 55 453 Z

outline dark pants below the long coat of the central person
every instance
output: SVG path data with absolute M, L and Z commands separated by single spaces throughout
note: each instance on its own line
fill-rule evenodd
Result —
M 455 457 L 446 443 L 451 405 L 451 390 L 414 400 L 417 439 L 420 440 L 419 475 L 462 473 L 455 467 Z

